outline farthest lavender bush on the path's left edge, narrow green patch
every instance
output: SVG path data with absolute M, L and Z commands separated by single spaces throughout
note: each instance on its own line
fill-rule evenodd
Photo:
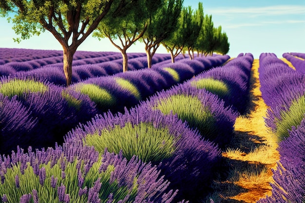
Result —
M 243 113 L 248 102 L 250 70 L 253 55 L 245 54 L 230 60 L 223 67 L 216 67 L 192 78 L 189 83 L 199 89 L 206 89 L 217 94 L 225 101 L 226 106 L 232 106 Z

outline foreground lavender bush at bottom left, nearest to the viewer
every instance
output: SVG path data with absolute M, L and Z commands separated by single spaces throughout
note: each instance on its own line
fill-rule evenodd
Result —
M 79 143 L 28 153 L 18 148 L 0 165 L 0 194 L 8 203 L 170 203 L 176 194 L 165 193 L 170 183 L 155 166 Z

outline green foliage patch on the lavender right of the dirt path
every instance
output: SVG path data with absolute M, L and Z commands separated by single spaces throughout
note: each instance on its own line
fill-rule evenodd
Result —
M 297 127 L 301 124 L 304 114 L 305 95 L 301 96 L 299 99 L 293 100 L 288 111 L 281 112 L 281 119 L 276 118 L 274 120 L 276 124 L 275 135 L 278 143 L 289 137 L 288 130 L 291 130 L 292 126 Z

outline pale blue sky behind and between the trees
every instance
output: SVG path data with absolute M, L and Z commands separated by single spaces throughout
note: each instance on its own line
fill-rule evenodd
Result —
M 212 15 L 214 27 L 222 26 L 230 50 L 228 55 L 274 53 L 278 57 L 286 52 L 305 53 L 305 0 L 184 0 L 184 6 L 198 7 L 203 3 L 204 15 Z M 12 29 L 13 24 L 0 18 L 0 48 L 26 48 L 62 50 L 59 42 L 46 31 L 39 36 L 22 40 Z M 77 50 L 119 52 L 108 38 L 98 40 L 89 36 Z M 144 44 L 135 42 L 127 51 L 145 52 Z M 161 45 L 157 53 L 167 53 Z

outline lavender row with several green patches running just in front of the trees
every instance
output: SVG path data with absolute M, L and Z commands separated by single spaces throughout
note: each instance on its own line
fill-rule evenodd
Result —
M 87 79 L 69 88 L 26 76 L 3 77 L 0 82 L 1 153 L 17 145 L 42 148 L 62 143 L 78 123 L 97 113 L 123 111 L 157 91 L 191 78 L 228 60 L 228 55 L 181 60 L 142 69 Z

